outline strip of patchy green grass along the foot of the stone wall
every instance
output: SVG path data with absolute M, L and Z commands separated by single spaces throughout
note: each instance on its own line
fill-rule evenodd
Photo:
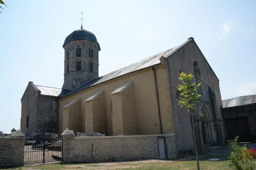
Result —
M 229 160 L 225 161 L 200 161 L 202 170 L 234 170 L 229 168 Z M 44 164 L 44 165 L 24 165 L 15 170 L 196 170 L 196 161 L 166 161 L 155 163 L 126 162 L 126 163 L 105 163 L 105 164 Z M 14 169 L 8 169 L 14 170 Z

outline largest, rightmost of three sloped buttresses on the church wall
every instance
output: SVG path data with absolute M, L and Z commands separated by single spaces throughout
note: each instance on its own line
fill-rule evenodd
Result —
M 113 135 L 138 135 L 138 117 L 132 81 L 122 84 L 111 95 Z

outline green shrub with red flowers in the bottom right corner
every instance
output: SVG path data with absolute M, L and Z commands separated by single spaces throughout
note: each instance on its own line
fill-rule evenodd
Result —
M 235 166 L 236 170 L 255 170 L 256 169 L 256 151 L 247 149 L 246 145 L 239 146 L 239 136 L 235 137 L 234 142 L 231 142 L 231 154 L 228 157 L 231 160 L 229 166 Z

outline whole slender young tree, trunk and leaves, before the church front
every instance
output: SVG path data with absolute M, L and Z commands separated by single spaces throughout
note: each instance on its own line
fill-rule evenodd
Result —
M 190 112 L 191 121 L 192 121 L 192 128 L 193 128 L 193 136 L 194 136 L 194 145 L 195 145 L 195 152 L 196 152 L 196 162 L 197 162 L 197 170 L 199 168 L 199 158 L 198 158 L 198 149 L 197 149 L 197 142 L 196 142 L 196 133 L 195 133 L 195 124 L 194 124 L 194 113 L 195 113 L 195 106 L 198 103 L 200 94 L 197 94 L 198 87 L 201 83 L 193 83 L 193 75 L 189 74 L 186 75 L 185 73 L 180 73 L 179 79 L 181 80 L 182 84 L 178 85 L 178 89 L 180 92 L 179 99 L 177 100 L 180 107 L 186 107 L 187 110 Z

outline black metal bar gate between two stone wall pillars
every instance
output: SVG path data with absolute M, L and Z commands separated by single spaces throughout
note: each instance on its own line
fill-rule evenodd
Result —
M 61 155 L 61 136 L 38 134 L 25 139 L 24 164 L 60 161 Z

